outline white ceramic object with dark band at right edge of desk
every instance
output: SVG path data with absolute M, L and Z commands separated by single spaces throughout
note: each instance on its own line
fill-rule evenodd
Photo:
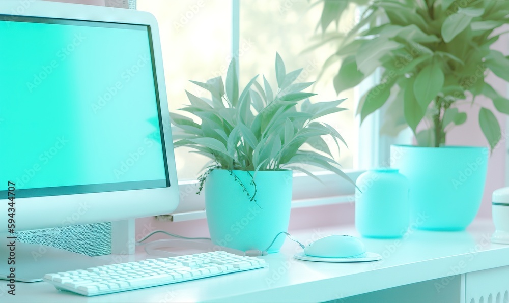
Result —
M 509 244 L 509 187 L 494 191 L 492 201 L 495 233 L 491 236 L 491 241 Z

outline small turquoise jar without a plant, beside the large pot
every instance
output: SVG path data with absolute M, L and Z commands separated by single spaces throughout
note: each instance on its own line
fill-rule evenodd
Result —
M 364 237 L 399 238 L 408 229 L 408 179 L 397 169 L 362 173 L 355 182 L 355 227 Z

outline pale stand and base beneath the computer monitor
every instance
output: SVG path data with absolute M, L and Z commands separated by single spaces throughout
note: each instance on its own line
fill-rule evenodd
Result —
M 37 282 L 52 272 L 125 262 L 123 258 L 90 257 L 46 245 L 21 243 L 9 236 L 0 233 L 0 280 Z M 13 241 L 15 263 L 9 264 Z M 134 219 L 112 222 L 111 253 L 124 257 L 134 253 Z M 14 275 L 11 268 L 14 268 Z

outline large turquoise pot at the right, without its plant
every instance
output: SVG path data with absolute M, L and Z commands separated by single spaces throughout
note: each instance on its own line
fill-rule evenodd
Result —
M 410 182 L 410 224 L 426 230 L 465 229 L 483 198 L 488 148 L 392 145 L 391 167 Z

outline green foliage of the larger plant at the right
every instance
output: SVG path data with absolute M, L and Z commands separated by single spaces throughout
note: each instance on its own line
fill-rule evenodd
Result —
M 509 23 L 509 5 L 500 0 L 324 0 L 320 44 L 336 42 L 326 66 L 342 60 L 334 77 L 339 94 L 383 68 L 381 80 L 361 98 L 361 121 L 389 103 L 382 129 L 410 126 L 419 145 L 438 147 L 446 132 L 466 120 L 457 102 L 471 98 L 491 148 L 500 140 L 493 112 L 476 100 L 484 95 L 509 114 L 509 100 L 485 82 L 487 70 L 509 81 L 509 58 L 490 49 Z M 326 32 L 350 4 L 364 7 L 345 35 Z M 419 128 L 418 128 L 419 126 Z M 397 133 L 397 132 L 396 132 Z

